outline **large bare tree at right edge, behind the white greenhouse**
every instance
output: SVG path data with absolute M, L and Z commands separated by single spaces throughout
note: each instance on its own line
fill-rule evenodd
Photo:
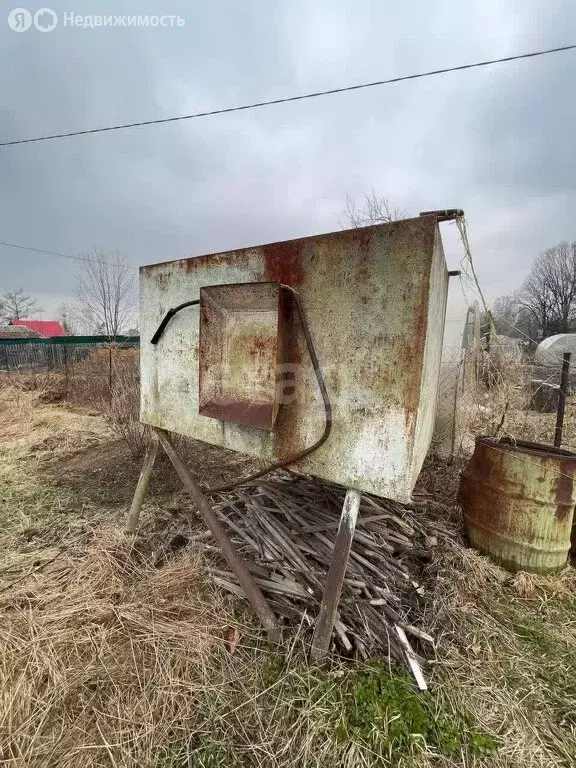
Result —
M 533 319 L 540 338 L 576 326 L 576 241 L 561 242 L 536 258 L 518 292 L 518 304 Z

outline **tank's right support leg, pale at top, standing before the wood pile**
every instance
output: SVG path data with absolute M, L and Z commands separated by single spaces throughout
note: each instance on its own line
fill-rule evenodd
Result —
M 310 652 L 312 661 L 318 661 L 328 653 L 330 636 L 334 628 L 338 603 L 340 602 L 340 593 L 342 592 L 342 584 L 344 583 L 344 575 L 348 565 L 350 547 L 352 546 L 352 539 L 356 529 L 360 497 L 360 491 L 346 491 L 332 561 L 330 562 L 326 587 L 324 588 L 322 604 L 320 605 L 320 613 L 318 614 L 314 637 L 312 638 L 312 650 Z

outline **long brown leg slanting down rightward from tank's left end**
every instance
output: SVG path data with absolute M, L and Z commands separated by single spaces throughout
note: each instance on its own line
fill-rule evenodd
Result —
M 184 465 L 182 459 L 176 452 L 176 449 L 172 445 L 172 442 L 168 437 L 167 433 L 164 432 L 164 430 L 157 429 L 157 428 L 154 428 L 154 432 L 158 435 L 158 439 L 162 445 L 162 448 L 164 448 L 164 450 L 166 451 L 166 454 L 168 455 L 168 458 L 172 462 L 174 469 L 178 473 L 180 480 L 182 480 L 184 487 L 194 499 L 194 503 L 196 504 L 200 514 L 204 518 L 204 522 L 206 523 L 208 528 L 210 528 L 212 535 L 220 545 L 222 549 L 222 553 L 224 554 L 224 557 L 226 558 L 228 565 L 230 566 L 230 568 L 232 568 L 232 570 L 238 577 L 238 581 L 240 582 L 242 589 L 246 593 L 246 597 L 250 601 L 252 608 L 254 608 L 254 610 L 258 614 L 264 629 L 268 633 L 268 637 L 270 638 L 270 640 L 277 642 L 279 639 L 279 630 L 276 623 L 276 616 L 274 615 L 274 612 L 268 605 L 266 598 L 262 594 L 260 588 L 252 578 L 252 574 L 246 567 L 242 558 L 236 552 L 234 545 L 230 541 L 230 538 L 228 537 L 226 531 L 222 527 L 222 524 L 216 517 L 214 510 L 212 509 L 212 507 L 208 503 L 208 500 L 202 493 L 200 486 L 194 480 L 194 478 L 192 477 L 192 475 Z

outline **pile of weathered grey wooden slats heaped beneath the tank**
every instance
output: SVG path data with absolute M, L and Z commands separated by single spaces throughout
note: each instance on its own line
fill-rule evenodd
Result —
M 274 612 L 292 626 L 313 624 L 332 557 L 345 489 L 281 476 L 235 490 L 215 504 Z M 438 537 L 450 535 L 422 512 L 362 496 L 333 639 L 339 650 L 405 658 L 404 638 L 425 653 L 433 638 L 421 627 L 423 569 Z M 209 539 L 196 539 L 214 550 Z M 215 581 L 243 595 L 233 573 L 211 569 Z M 400 632 L 398 631 L 400 628 Z

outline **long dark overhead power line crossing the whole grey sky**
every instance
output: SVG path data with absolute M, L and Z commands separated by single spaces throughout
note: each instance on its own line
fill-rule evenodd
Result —
M 142 120 L 138 123 L 123 123 L 120 125 L 108 125 L 104 128 L 90 128 L 84 131 L 70 131 L 69 133 L 55 133 L 51 136 L 36 136 L 29 139 L 14 139 L 12 141 L 0 142 L 0 147 L 9 147 L 14 144 L 31 144 L 36 141 L 51 141 L 52 139 L 66 139 L 71 136 L 85 136 L 89 133 L 104 133 L 106 131 L 120 131 L 127 128 L 141 128 L 147 125 L 159 125 L 160 123 L 174 123 L 178 120 L 192 120 L 197 117 L 209 117 L 211 115 L 223 115 L 230 112 L 242 112 L 248 109 L 257 109 L 258 107 L 269 107 L 274 104 L 286 104 L 292 101 L 303 101 L 304 99 L 315 99 L 319 96 L 331 96 L 336 93 L 345 93 L 347 91 L 359 91 L 363 88 L 374 88 L 378 85 L 391 85 L 392 83 L 402 83 L 407 80 L 418 80 L 425 77 L 434 77 L 436 75 L 445 75 L 449 72 L 462 72 L 465 69 L 475 69 L 478 67 L 488 67 L 492 64 L 503 64 L 508 61 L 518 61 L 520 59 L 531 59 L 537 56 L 546 56 L 550 53 L 560 53 L 561 51 L 571 51 L 576 48 L 576 43 L 563 45 L 558 48 L 548 48 L 543 51 L 532 51 L 530 53 L 521 53 L 516 56 L 505 56 L 500 59 L 489 59 L 487 61 L 477 61 L 473 64 L 460 64 L 457 67 L 446 67 L 444 69 L 433 69 L 430 72 L 419 72 L 414 75 L 403 75 L 401 77 L 391 77 L 388 80 L 375 80 L 371 83 L 360 83 L 358 85 L 347 85 L 342 88 L 330 88 L 326 91 L 313 91 L 303 93 L 298 96 L 286 96 L 282 99 L 270 99 L 269 101 L 257 101 L 253 104 L 243 104 L 238 107 L 223 107 L 222 109 L 212 109 L 207 112 L 196 112 L 191 115 L 178 115 L 176 117 L 164 117 L 158 120 Z

